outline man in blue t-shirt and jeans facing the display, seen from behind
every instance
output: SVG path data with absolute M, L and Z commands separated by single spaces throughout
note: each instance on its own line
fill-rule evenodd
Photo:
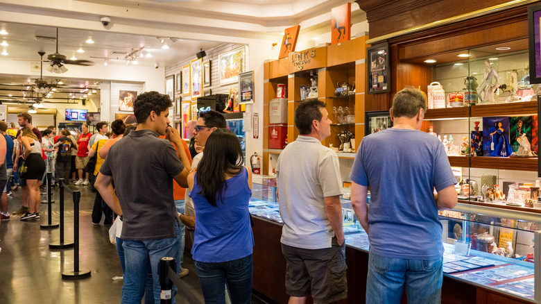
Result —
M 425 110 L 420 90 L 397 92 L 393 128 L 364 137 L 354 160 L 352 205 L 370 239 L 366 303 L 400 303 L 404 285 L 408 303 L 441 300 L 438 210 L 456 205 L 456 180 L 441 142 L 420 131 Z

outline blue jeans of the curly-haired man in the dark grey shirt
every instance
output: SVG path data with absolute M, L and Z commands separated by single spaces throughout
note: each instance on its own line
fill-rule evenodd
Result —
M 175 231 L 178 231 L 175 223 Z M 145 292 L 145 282 L 148 269 L 151 269 L 154 282 L 154 303 L 160 303 L 160 279 L 158 277 L 158 263 L 162 257 L 176 257 L 178 255 L 177 237 L 164 239 L 132 240 L 123 239 L 124 259 L 126 271 L 124 272 L 124 285 L 122 287 L 122 303 L 141 303 Z M 178 273 L 179 264 L 175 272 Z M 173 285 L 173 304 L 177 288 Z

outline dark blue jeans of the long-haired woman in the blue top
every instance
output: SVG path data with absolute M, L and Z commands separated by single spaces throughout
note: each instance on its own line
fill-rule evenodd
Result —
M 197 275 L 203 289 L 205 304 L 225 303 L 225 285 L 231 296 L 231 303 L 252 302 L 252 255 L 228 262 L 198 262 Z

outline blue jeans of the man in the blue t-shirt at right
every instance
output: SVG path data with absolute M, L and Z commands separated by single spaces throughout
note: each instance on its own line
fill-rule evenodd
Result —
M 370 249 L 366 303 L 400 303 L 403 286 L 409 304 L 440 303 L 443 257 L 404 260 L 377 255 Z

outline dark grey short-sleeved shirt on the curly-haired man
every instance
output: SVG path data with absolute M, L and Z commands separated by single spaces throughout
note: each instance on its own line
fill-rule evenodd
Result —
M 173 176 L 184 165 L 173 144 L 136 130 L 111 146 L 100 173 L 112 176 L 123 212 L 123 239 L 174 237 Z

